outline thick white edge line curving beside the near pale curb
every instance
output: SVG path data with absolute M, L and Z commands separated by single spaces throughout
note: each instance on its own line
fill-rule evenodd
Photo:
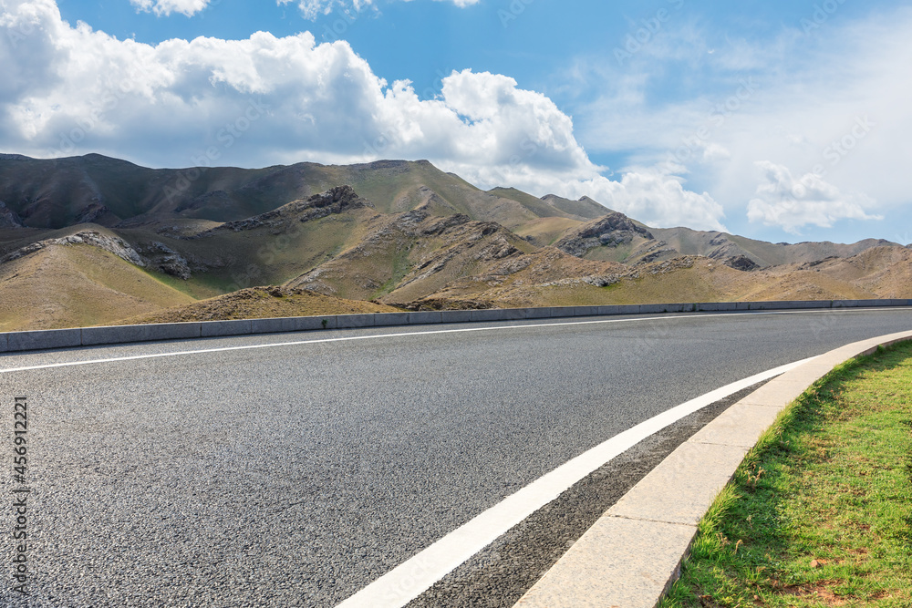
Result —
M 468 523 L 444 536 L 424 551 L 402 562 L 367 587 L 339 603 L 337 608 L 401 608 L 424 593 L 435 582 L 452 572 L 478 551 L 495 541 L 536 510 L 570 489 L 577 481 L 604 466 L 608 461 L 658 433 L 683 417 L 748 386 L 779 376 L 817 357 L 776 367 L 761 374 L 722 386 L 696 399 L 641 422 L 636 427 L 608 439 L 557 469 L 536 479 L 515 494 L 484 511 Z

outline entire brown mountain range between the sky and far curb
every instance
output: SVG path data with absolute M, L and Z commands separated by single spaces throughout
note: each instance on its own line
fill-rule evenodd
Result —
M 427 161 L 152 170 L 0 155 L 0 329 L 237 315 L 908 297 L 896 243 L 653 228 Z

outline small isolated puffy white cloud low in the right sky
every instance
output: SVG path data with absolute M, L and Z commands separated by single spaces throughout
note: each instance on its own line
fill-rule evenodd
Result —
M 806 225 L 832 228 L 839 220 L 881 220 L 865 207 L 874 201 L 862 193 L 843 193 L 819 175 L 806 173 L 795 180 L 792 171 L 767 160 L 756 163 L 763 180 L 757 196 L 748 203 L 748 219 L 768 226 L 780 226 L 799 234 Z

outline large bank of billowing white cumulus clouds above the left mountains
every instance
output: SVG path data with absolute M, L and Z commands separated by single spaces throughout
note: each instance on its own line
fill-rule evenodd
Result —
M 316 44 L 310 33 L 152 46 L 69 26 L 53 0 L 6 7 L 2 151 L 171 167 L 428 159 L 482 188 L 588 195 L 653 225 L 722 227 L 720 205 L 674 170 L 606 178 L 573 120 L 511 77 L 454 71 L 422 100 L 409 81 L 377 77 L 347 42 Z

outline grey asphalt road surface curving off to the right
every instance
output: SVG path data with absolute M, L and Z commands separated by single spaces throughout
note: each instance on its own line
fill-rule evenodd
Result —
M 13 400 L 27 397 L 31 489 L 31 595 L 5 565 L 0 604 L 333 606 L 618 432 L 910 329 L 912 311 L 580 323 L 598 320 L 0 356 L 0 370 L 111 359 L 0 371 L 10 457 Z M 358 339 L 279 345 L 326 338 Z M 266 347 L 233 349 L 247 345 Z M 196 349 L 228 350 L 123 358 Z M 16 487 L 4 472 L 3 495 Z

